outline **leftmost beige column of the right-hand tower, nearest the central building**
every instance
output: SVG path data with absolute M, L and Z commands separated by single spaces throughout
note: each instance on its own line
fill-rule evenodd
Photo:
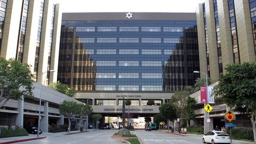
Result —
M 199 41 L 199 60 L 200 60 L 200 72 L 207 73 L 207 57 L 206 57 L 206 35 L 204 31 L 204 15 L 203 4 L 199 4 L 196 9 L 197 16 L 197 33 Z M 203 73 L 200 73 L 203 77 Z

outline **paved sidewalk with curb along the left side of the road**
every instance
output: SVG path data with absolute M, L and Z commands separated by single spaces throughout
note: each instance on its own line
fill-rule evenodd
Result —
M 89 129 L 87 132 L 90 132 L 94 129 Z M 28 136 L 16 136 L 16 137 L 6 137 L 0 139 L 0 144 L 7 144 L 7 143 L 16 143 L 16 142 L 25 142 L 30 140 L 36 140 L 36 139 L 44 139 L 46 137 L 57 137 L 57 136 L 63 136 L 63 135 L 72 135 L 75 133 L 81 133 L 78 130 L 68 132 L 59 132 L 59 133 L 42 133 L 40 137 L 37 137 L 37 135 L 31 135 Z

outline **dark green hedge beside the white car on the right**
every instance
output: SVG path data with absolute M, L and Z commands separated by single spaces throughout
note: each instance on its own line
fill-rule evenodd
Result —
M 229 128 L 227 133 L 230 135 Z M 254 140 L 252 127 L 233 127 L 231 137 L 237 140 Z

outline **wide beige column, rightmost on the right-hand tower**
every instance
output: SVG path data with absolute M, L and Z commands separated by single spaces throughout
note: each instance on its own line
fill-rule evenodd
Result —
M 234 0 L 241 63 L 255 62 L 254 38 L 252 34 L 249 1 Z

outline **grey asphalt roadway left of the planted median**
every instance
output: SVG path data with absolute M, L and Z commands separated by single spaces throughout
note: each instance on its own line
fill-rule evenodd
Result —
M 77 144 L 77 143 L 100 143 L 100 144 L 114 144 L 121 143 L 119 140 L 112 138 L 113 133 L 117 130 L 93 130 L 85 133 L 76 133 L 73 135 L 47 135 L 45 139 L 32 140 L 20 143 L 54 143 L 54 144 Z

